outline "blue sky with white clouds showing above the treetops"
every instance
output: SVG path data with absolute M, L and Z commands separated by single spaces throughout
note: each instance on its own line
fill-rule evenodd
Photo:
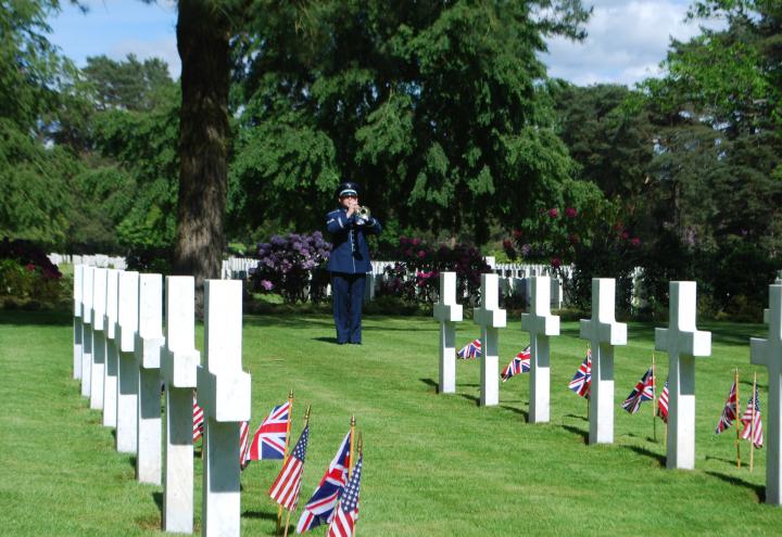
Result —
M 105 54 L 115 60 L 135 53 L 139 59 L 161 57 L 174 78 L 180 64 L 176 49 L 176 0 L 83 0 L 85 15 L 66 5 L 50 20 L 51 41 L 78 66 L 87 56 Z M 670 38 L 688 40 L 699 34 L 698 24 L 685 23 L 689 0 L 583 0 L 593 5 L 583 42 L 562 38 L 548 40 L 541 60 L 551 77 L 579 86 L 623 84 L 632 86 L 660 74 Z

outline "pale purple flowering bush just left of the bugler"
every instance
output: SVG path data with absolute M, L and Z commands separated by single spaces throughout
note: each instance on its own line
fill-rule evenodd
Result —
M 251 270 L 254 291 L 278 293 L 287 303 L 320 302 L 326 295 L 328 276 L 324 264 L 331 244 L 320 231 L 274 235 L 257 244 L 258 266 Z

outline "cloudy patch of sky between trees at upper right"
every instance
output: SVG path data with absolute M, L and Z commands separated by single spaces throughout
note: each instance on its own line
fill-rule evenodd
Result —
M 720 27 L 714 21 L 686 22 L 688 3 L 678 0 L 594 0 L 583 42 L 562 37 L 547 41 L 541 60 L 548 75 L 578 85 L 615 82 L 633 85 L 659 76 L 671 38 L 688 40 L 699 25 Z

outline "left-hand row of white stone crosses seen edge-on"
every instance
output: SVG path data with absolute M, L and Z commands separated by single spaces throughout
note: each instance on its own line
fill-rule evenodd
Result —
M 163 529 L 192 533 L 192 391 L 204 411 L 202 535 L 240 534 L 240 422 L 250 420 L 241 369 L 241 281 L 205 283 L 204 365 L 195 349 L 194 282 L 77 265 L 74 378 L 116 449 L 136 455 L 140 483 L 163 482 Z M 161 383 L 166 423 L 161 420 Z M 163 451 L 161 451 L 162 440 Z M 161 480 L 162 478 L 162 480 Z

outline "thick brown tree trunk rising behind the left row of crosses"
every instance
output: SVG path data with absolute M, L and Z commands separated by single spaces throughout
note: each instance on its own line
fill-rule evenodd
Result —
M 182 101 L 174 271 L 195 278 L 199 314 L 204 280 L 220 277 L 225 241 L 230 31 L 218 4 L 180 0 L 177 21 Z

